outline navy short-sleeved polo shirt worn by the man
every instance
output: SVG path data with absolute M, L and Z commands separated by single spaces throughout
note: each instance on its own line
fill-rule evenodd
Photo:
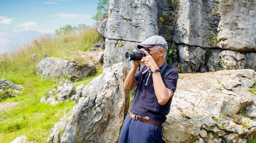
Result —
M 131 110 L 147 117 L 152 117 L 162 122 L 166 121 L 166 115 L 170 112 L 172 97 L 165 105 L 160 105 L 155 96 L 152 72 L 146 66 L 141 68 L 135 74 L 134 80 L 137 82 L 136 92 L 132 101 Z M 160 68 L 161 69 L 161 68 Z M 167 90 L 175 92 L 178 80 L 178 71 L 170 65 L 167 65 L 162 73 L 162 79 Z

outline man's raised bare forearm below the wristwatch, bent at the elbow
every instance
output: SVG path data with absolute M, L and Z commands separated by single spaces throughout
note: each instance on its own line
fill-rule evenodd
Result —
M 157 101 L 160 105 L 164 105 L 172 97 L 173 93 L 167 90 L 160 72 L 153 73 L 152 77 Z

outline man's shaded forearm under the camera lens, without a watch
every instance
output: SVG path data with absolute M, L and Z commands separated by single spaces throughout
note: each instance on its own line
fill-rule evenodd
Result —
M 134 81 L 134 75 L 136 73 L 138 66 L 132 65 L 130 72 L 128 73 L 125 81 L 124 81 L 124 89 L 132 90 L 137 86 L 137 83 Z

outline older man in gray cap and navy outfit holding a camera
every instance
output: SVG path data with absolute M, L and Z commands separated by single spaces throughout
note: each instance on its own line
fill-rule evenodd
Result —
M 149 51 L 142 49 L 146 56 L 132 61 L 124 81 L 125 90 L 137 89 L 118 142 L 162 143 L 162 123 L 170 111 L 178 71 L 165 61 L 168 46 L 162 36 L 149 37 L 137 48 Z M 136 73 L 140 64 L 145 66 Z

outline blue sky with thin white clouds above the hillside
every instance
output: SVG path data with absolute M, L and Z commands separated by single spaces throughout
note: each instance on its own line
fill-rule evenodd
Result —
M 92 26 L 99 0 L 0 0 L 0 31 L 54 33 L 67 24 Z

